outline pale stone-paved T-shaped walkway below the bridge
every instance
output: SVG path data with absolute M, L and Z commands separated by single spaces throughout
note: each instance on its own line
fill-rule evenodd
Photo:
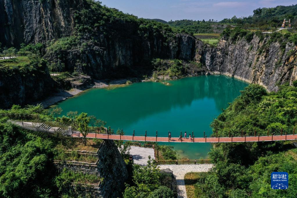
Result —
M 176 176 L 178 186 L 178 198 L 187 198 L 184 176 L 188 172 L 207 172 L 213 167 L 213 164 L 184 164 L 184 165 L 159 165 L 160 169 L 170 169 Z

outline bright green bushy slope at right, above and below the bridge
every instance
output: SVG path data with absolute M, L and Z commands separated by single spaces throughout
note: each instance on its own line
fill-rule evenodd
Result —
M 296 83 L 294 83 L 296 84 Z M 251 84 L 211 123 L 221 136 L 293 134 L 297 126 L 297 87 L 267 93 Z M 197 197 L 295 197 L 296 156 L 291 142 L 219 143 L 209 153 L 215 167 L 195 185 Z M 270 188 L 273 171 L 288 172 L 286 191 Z

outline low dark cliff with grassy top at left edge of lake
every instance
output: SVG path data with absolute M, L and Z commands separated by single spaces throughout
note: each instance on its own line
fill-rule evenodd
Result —
M 24 64 L 24 62 L 28 62 Z M 46 62 L 26 57 L 0 61 L 0 108 L 26 105 L 48 96 L 53 88 Z

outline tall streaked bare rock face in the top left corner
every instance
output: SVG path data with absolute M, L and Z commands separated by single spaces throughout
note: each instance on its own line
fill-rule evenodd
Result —
M 0 42 L 7 47 L 69 35 L 80 0 L 1 0 Z

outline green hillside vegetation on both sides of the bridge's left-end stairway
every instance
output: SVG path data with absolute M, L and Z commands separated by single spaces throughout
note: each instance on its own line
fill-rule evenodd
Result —
M 7 122 L 14 119 L 45 122 L 51 126 L 69 123 L 78 128 L 84 124 L 80 119 L 83 115 L 77 115 L 77 112 L 69 112 L 67 117 L 59 117 L 60 114 L 61 109 L 48 111 L 42 105 L 29 105 L 26 108 L 14 105 L 11 110 L 0 110 L 0 197 L 58 197 L 62 188 L 70 182 L 88 184 L 103 180 L 68 170 L 56 171 L 54 160 L 94 162 L 98 159 L 80 156 L 76 151 L 65 152 L 76 145 L 76 141 L 64 137 L 59 130 L 53 134 L 32 132 Z M 96 127 L 100 130 L 105 124 L 93 116 L 89 118 L 92 119 L 90 125 L 93 124 L 90 129 Z

